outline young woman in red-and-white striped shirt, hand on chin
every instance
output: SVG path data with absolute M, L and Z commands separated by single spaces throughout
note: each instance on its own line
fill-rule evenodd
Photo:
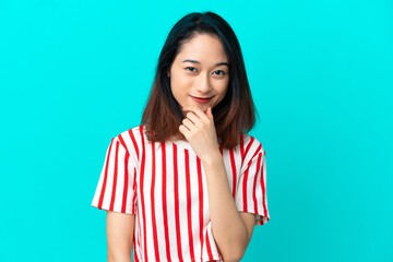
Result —
M 270 219 L 266 157 L 238 39 L 219 15 L 170 31 L 141 124 L 112 138 L 92 205 L 108 261 L 239 261 Z

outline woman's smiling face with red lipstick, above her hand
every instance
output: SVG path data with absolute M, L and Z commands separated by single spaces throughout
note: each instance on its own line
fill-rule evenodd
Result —
M 174 97 L 181 107 L 214 108 L 229 83 L 229 62 L 222 43 L 216 36 L 196 33 L 180 48 L 167 72 Z

